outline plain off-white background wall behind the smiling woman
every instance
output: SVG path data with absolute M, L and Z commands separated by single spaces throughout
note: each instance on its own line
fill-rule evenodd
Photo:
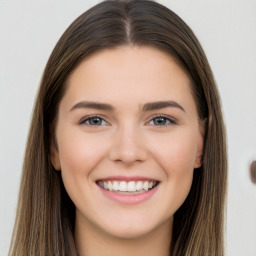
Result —
M 0 256 L 7 255 L 34 97 L 67 26 L 99 1 L 0 0 Z M 222 97 L 229 146 L 228 256 L 256 255 L 256 1 L 159 1 L 202 43 Z

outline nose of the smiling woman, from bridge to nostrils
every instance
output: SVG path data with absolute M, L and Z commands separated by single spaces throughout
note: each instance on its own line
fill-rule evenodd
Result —
M 111 142 L 110 160 L 131 165 L 147 159 L 146 143 L 138 130 L 132 127 L 117 129 Z

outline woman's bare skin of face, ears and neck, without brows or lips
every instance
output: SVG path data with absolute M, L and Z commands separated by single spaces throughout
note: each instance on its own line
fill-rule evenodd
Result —
M 82 101 L 114 110 L 74 107 Z M 144 111 L 156 101 L 177 106 Z M 88 116 L 97 115 L 99 125 Z M 157 123 L 156 117 L 164 116 Z M 76 206 L 79 255 L 168 255 L 173 215 L 201 166 L 203 129 L 190 79 L 168 54 L 122 46 L 86 58 L 60 102 L 51 160 Z M 196 171 L 196 170 L 195 170 Z M 106 198 L 96 181 L 108 176 L 158 180 L 148 200 L 126 205 Z

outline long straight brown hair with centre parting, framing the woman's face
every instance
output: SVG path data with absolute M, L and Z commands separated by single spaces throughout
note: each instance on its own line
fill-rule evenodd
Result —
M 55 46 L 42 77 L 28 135 L 9 256 L 77 255 L 75 206 L 50 162 L 50 144 L 68 79 L 87 56 L 120 45 L 152 46 L 170 54 L 190 76 L 205 123 L 202 167 L 174 215 L 170 255 L 223 256 L 226 141 L 211 68 L 191 29 L 174 12 L 147 0 L 110 0 L 78 17 Z

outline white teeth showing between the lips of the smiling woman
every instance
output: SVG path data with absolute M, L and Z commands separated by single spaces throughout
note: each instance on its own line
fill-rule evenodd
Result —
M 117 181 L 117 180 L 99 180 L 96 182 L 101 188 L 110 192 L 119 194 L 141 194 L 156 187 L 158 181 Z

